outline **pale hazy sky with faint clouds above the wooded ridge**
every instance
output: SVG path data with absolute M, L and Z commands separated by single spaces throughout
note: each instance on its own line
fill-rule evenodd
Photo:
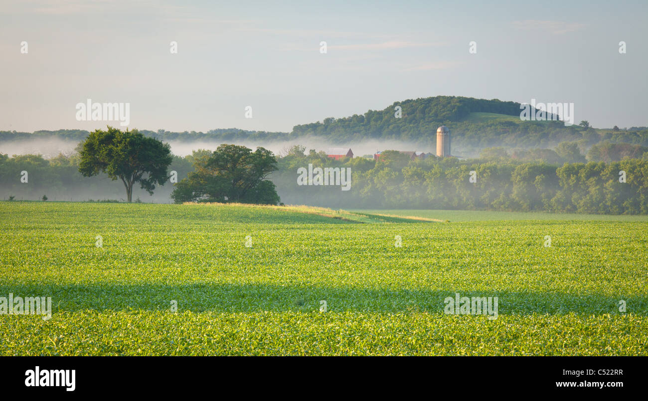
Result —
M 647 1 L 490 3 L 1 0 L 0 130 L 105 127 L 76 120 L 88 98 L 131 128 L 290 131 L 437 95 L 648 125 Z

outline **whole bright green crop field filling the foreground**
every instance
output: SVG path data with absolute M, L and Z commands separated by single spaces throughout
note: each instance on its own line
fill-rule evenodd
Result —
M 67 202 L 0 216 L 0 297 L 52 298 L 49 320 L 0 315 L 2 355 L 648 355 L 643 217 Z M 456 293 L 498 297 L 497 318 L 445 314 Z

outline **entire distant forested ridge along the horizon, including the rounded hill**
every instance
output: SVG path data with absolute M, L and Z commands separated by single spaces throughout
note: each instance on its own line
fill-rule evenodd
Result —
M 395 116 L 400 107 L 400 118 Z M 494 113 L 484 118 L 472 118 L 471 113 Z M 497 118 L 502 116 L 502 118 Z M 170 132 L 165 129 L 141 129 L 145 136 L 159 140 L 214 140 L 220 143 L 237 140 L 290 140 L 297 142 L 305 136 L 317 136 L 331 143 L 352 146 L 361 140 L 401 140 L 413 146 L 434 149 L 436 129 L 450 127 L 452 147 L 467 154 L 493 146 L 555 147 L 560 142 L 579 142 L 583 149 L 600 142 L 627 143 L 648 146 L 648 128 L 594 129 L 589 126 L 569 125 L 562 121 L 521 121 L 520 103 L 485 100 L 462 96 L 435 96 L 395 102 L 382 110 L 369 110 L 342 118 L 328 117 L 321 122 L 295 125 L 290 133 L 246 131 L 237 128 Z M 89 133 L 83 130 L 60 129 L 23 133 L 0 131 L 0 143 L 6 140 L 47 138 L 55 136 L 67 140 L 84 140 Z M 456 152 L 455 152 L 456 153 Z

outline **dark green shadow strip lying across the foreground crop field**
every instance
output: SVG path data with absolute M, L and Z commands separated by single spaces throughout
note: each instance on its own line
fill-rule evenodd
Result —
M 443 313 L 447 297 L 498 297 L 498 314 L 619 314 L 623 299 L 629 313 L 648 314 L 648 296 L 616 297 L 549 292 L 475 292 L 463 289 L 364 290 L 361 288 L 291 287 L 259 284 L 191 285 L 12 285 L 0 286 L 0 297 L 51 296 L 52 312 L 76 310 L 170 310 L 178 312 L 314 312 L 327 301 L 330 312 Z

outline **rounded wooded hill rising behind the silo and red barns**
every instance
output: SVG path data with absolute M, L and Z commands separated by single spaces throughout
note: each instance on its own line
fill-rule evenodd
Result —
M 395 115 L 400 107 L 401 116 Z M 553 148 L 577 142 L 581 151 L 599 142 L 648 146 L 648 129 L 594 129 L 565 125 L 560 120 L 520 120 L 520 103 L 461 96 L 435 96 L 395 102 L 381 111 L 325 118 L 323 122 L 295 125 L 294 137 L 319 136 L 331 142 L 356 144 L 360 140 L 400 140 L 417 149 L 434 149 L 436 130 L 446 125 L 452 133 L 452 153 L 476 156 L 480 149 Z

